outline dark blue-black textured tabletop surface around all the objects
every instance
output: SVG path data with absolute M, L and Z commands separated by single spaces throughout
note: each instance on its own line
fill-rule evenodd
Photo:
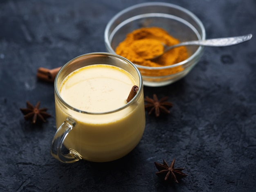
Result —
M 50 154 L 53 84 L 36 79 L 81 54 L 106 51 L 103 32 L 117 12 L 146 0 L 0 1 L 0 191 L 255 191 L 256 1 L 165 1 L 195 13 L 207 38 L 252 33 L 249 42 L 204 49 L 182 80 L 144 87 L 174 103 L 160 118 L 146 113 L 139 145 L 109 163 L 63 164 Z M 147 1 L 149 2 L 149 1 Z M 53 115 L 43 125 L 19 110 L 38 100 Z M 185 167 L 177 185 L 163 183 L 154 161 Z

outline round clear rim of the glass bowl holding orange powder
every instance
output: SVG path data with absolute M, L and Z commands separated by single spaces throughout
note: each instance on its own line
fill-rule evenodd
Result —
M 121 16 L 124 13 L 127 13 L 128 11 L 131 11 L 132 9 L 135 9 L 135 8 L 145 7 L 145 6 L 156 6 L 156 5 L 157 6 L 172 7 L 172 8 L 175 8 L 175 9 L 179 9 L 180 11 L 183 11 L 186 14 L 188 14 L 191 18 L 193 18 L 195 23 L 202 30 L 201 40 L 205 40 L 206 34 L 205 34 L 204 25 L 202 24 L 201 20 L 194 13 L 189 11 L 188 9 L 185 9 L 184 7 L 181 7 L 179 5 L 171 4 L 171 3 L 167 3 L 167 2 L 145 2 L 145 3 L 139 3 L 139 4 L 132 5 L 130 7 L 127 7 L 126 9 L 123 9 L 122 11 L 119 11 L 115 16 L 113 16 L 110 19 L 110 21 L 106 25 L 106 28 L 105 28 L 105 31 L 104 31 L 104 40 L 105 40 L 105 45 L 106 45 L 108 51 L 110 51 L 113 54 L 116 54 L 114 49 L 110 45 L 108 34 L 109 34 L 109 30 L 110 30 L 111 25 L 113 24 L 113 22 L 115 22 L 115 20 L 117 20 L 117 18 L 119 18 L 119 16 Z M 200 55 L 200 52 L 202 50 L 203 50 L 203 46 L 199 46 L 198 49 L 195 51 L 195 53 L 192 54 L 189 58 L 187 58 L 186 60 L 183 60 L 179 63 L 173 64 L 173 65 L 168 65 L 168 66 L 163 66 L 163 67 L 148 67 L 148 66 L 138 65 L 136 63 L 134 63 L 134 64 L 136 65 L 136 67 L 141 68 L 141 69 L 151 69 L 151 70 L 152 69 L 169 69 L 169 68 L 185 65 L 186 63 L 191 62 L 191 60 L 193 60 L 197 55 Z

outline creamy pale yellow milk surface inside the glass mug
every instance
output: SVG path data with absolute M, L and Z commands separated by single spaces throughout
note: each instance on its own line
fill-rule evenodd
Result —
M 135 79 L 124 69 L 90 65 L 63 80 L 60 95 L 70 106 L 85 112 L 108 112 L 126 104 Z

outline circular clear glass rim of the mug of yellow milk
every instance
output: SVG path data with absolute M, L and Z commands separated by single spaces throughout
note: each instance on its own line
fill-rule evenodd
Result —
M 92 56 L 92 55 L 105 55 L 105 56 L 113 56 L 113 57 L 116 57 L 116 58 L 119 58 L 121 60 L 124 60 L 126 63 L 128 63 L 129 65 L 132 66 L 132 68 L 135 69 L 135 71 L 137 72 L 138 74 L 138 77 L 139 77 L 139 89 L 137 91 L 137 94 L 134 96 L 134 98 L 132 98 L 132 100 L 130 100 L 130 102 L 126 103 L 125 105 L 123 105 L 122 107 L 119 107 L 115 110 L 112 110 L 112 111 L 108 111 L 108 112 L 86 112 L 86 111 L 83 111 L 83 110 L 80 110 L 80 109 L 76 109 L 75 107 L 72 107 L 71 105 L 69 105 L 68 103 L 65 102 L 65 100 L 61 97 L 60 93 L 59 93 L 59 90 L 58 90 L 58 77 L 60 76 L 60 74 L 62 73 L 62 71 L 68 67 L 69 65 L 71 65 L 71 63 L 73 63 L 75 60 L 78 60 L 79 58 L 85 58 L 85 57 L 88 57 L 88 56 Z M 97 64 L 91 64 L 91 65 L 97 65 Z M 88 65 L 89 66 L 89 65 Z M 115 66 L 115 65 L 113 65 Z M 117 66 L 116 66 L 117 67 Z M 79 68 L 78 68 L 79 69 Z M 76 70 L 76 69 L 75 69 Z M 123 69 L 125 70 L 125 69 Z M 73 71 L 72 71 L 73 72 Z M 71 72 L 71 73 L 72 73 Z M 128 71 L 127 71 L 128 72 Z M 129 72 L 128 72 L 129 73 Z M 70 74 L 70 73 L 69 73 Z M 69 75 L 67 74 L 67 76 Z M 65 77 L 67 77 L 65 76 Z M 143 82 L 142 82 L 142 76 L 139 72 L 139 69 L 136 67 L 135 64 L 133 64 L 132 62 L 130 62 L 130 60 L 122 57 L 122 56 L 119 56 L 117 54 L 112 54 L 112 53 L 106 53 L 106 52 L 92 52 L 92 53 L 88 53 L 88 54 L 82 54 L 80 56 L 77 56 L 75 58 L 73 58 L 72 60 L 68 61 L 65 65 L 63 65 L 63 67 L 61 67 L 61 69 L 58 71 L 57 75 L 56 75 L 56 78 L 54 80 L 54 92 L 57 96 L 57 98 L 59 99 L 59 101 L 61 101 L 61 103 L 63 103 L 65 105 L 65 107 L 73 110 L 73 111 L 76 111 L 76 112 L 79 112 L 79 113 L 82 113 L 82 114 L 91 114 L 91 115 L 103 115 L 103 114 L 111 114 L 111 113 L 115 113 L 115 112 L 118 112 L 118 111 L 121 111 L 123 109 L 125 109 L 126 107 L 132 105 L 132 103 L 135 102 L 136 98 L 138 96 L 140 96 L 140 93 L 142 92 L 143 90 Z M 128 97 L 128 96 L 127 96 Z

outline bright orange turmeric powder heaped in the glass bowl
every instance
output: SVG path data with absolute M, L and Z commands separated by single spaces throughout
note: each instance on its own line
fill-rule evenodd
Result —
M 179 63 L 188 58 L 186 47 L 176 47 L 153 60 L 149 60 L 148 58 L 153 58 L 163 52 L 164 46 L 162 43 L 171 46 L 179 42 L 179 40 L 173 38 L 162 28 L 144 27 L 128 33 L 126 39 L 117 46 L 115 52 L 137 65 L 164 67 Z M 141 74 L 144 76 L 167 76 L 180 71 L 183 71 L 182 66 L 167 70 L 140 69 Z

